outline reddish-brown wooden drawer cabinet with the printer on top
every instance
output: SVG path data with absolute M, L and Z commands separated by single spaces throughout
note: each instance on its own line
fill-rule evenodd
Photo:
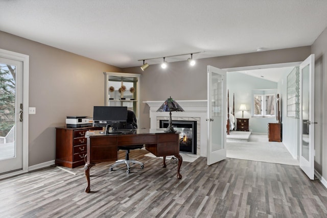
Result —
M 56 128 L 56 164 L 69 168 L 85 164 L 85 133 L 88 130 L 102 130 L 102 127 Z

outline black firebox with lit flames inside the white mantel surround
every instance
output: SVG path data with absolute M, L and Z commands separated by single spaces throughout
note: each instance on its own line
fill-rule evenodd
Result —
M 169 120 L 159 120 L 160 128 L 167 128 Z M 185 153 L 196 154 L 197 143 L 197 125 L 196 121 L 190 120 L 172 120 L 172 126 L 179 134 L 179 151 Z

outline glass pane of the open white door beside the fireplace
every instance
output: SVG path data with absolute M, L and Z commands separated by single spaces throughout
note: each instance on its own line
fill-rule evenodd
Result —
M 212 152 L 214 152 L 224 148 L 224 137 L 222 134 L 225 133 L 221 125 L 224 121 L 224 117 L 222 117 L 222 110 L 224 108 L 223 76 L 213 74 L 211 83 L 211 117 L 214 119 L 211 123 L 212 129 L 215 131 L 212 134 Z

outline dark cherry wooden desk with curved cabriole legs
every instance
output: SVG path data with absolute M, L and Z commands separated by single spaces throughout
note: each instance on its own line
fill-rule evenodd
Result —
M 145 144 L 146 150 L 157 157 L 164 157 L 162 167 L 166 167 L 166 156 L 175 155 L 178 159 L 177 178 L 181 179 L 180 166 L 182 157 L 179 155 L 179 132 L 166 133 L 160 130 L 140 129 L 118 135 L 103 135 L 100 131 L 86 133 L 87 155 L 85 156 L 84 172 L 87 180 L 85 192 L 90 192 L 90 168 L 96 163 L 118 160 L 119 146 L 135 146 Z

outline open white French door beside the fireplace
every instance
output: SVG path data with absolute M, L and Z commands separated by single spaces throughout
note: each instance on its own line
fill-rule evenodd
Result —
M 207 67 L 207 164 L 226 159 L 226 71 Z

